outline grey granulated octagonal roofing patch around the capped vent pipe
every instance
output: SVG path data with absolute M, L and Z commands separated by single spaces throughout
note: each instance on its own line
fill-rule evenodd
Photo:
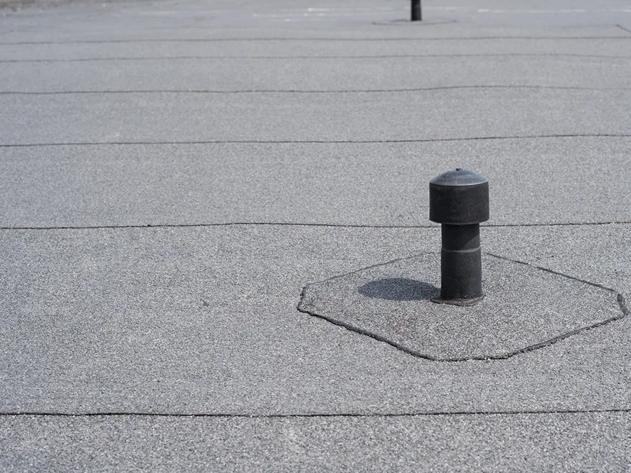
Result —
M 398 259 L 307 285 L 298 310 L 437 361 L 501 359 L 623 317 L 623 296 L 545 268 L 483 254 L 484 299 L 440 293 L 440 254 Z

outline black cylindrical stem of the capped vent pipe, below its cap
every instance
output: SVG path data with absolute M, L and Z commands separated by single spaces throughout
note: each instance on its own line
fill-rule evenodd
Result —
M 440 299 L 484 296 L 480 224 L 442 224 L 440 280 Z

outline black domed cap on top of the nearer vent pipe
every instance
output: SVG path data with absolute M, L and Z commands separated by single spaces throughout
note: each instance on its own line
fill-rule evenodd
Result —
M 430 220 L 470 225 L 489 219 L 489 179 L 458 168 L 430 181 Z

